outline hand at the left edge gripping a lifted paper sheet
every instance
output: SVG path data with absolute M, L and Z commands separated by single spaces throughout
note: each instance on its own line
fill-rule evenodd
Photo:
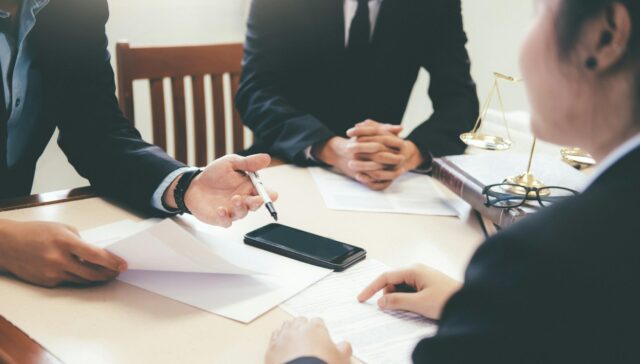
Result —
M 0 271 L 43 287 L 109 281 L 127 263 L 84 243 L 71 226 L 0 220 Z

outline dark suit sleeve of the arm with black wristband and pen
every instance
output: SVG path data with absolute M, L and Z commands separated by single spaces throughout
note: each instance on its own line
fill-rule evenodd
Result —
M 67 22 L 55 17 L 60 46 L 50 50 L 47 65 L 55 79 L 58 144 L 98 193 L 149 210 L 155 189 L 184 165 L 144 142 L 120 112 L 107 51 L 106 0 L 74 5 Z

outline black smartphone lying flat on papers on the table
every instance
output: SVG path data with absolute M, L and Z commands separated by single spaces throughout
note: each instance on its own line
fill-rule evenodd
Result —
M 269 224 L 254 230 L 244 236 L 244 242 L 338 272 L 363 260 L 367 255 L 362 248 L 280 224 Z

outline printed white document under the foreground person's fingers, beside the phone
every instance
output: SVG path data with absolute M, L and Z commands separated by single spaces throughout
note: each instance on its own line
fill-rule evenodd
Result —
M 342 273 L 332 273 L 288 300 L 281 307 L 294 316 L 322 318 L 334 341 L 348 341 L 353 355 L 365 363 L 411 363 L 411 354 L 423 338 L 435 335 L 437 326 L 422 316 L 382 311 L 378 293 L 365 303 L 358 294 L 389 268 L 365 260 Z

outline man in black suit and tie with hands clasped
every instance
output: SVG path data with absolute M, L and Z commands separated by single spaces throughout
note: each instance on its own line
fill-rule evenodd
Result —
M 252 150 L 374 189 L 462 153 L 478 115 L 466 41 L 459 0 L 253 0 L 237 95 Z M 434 113 L 402 139 L 421 68 Z

